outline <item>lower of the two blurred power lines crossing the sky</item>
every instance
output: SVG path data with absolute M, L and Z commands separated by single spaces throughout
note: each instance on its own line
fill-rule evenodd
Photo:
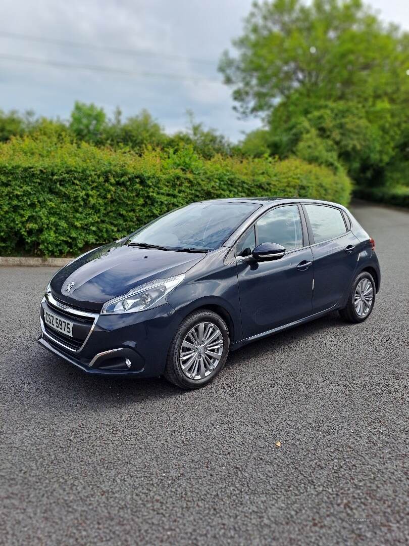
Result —
M 113 73 L 113 74 L 122 74 L 126 76 L 142 76 L 142 77 L 149 77 L 149 78 L 165 78 L 165 79 L 172 79 L 172 80 L 190 80 L 190 81 L 206 81 L 211 84 L 220 84 L 221 82 L 219 80 L 212 80 L 210 78 L 203 78 L 203 76 L 184 76 L 183 74 L 171 74 L 171 73 L 165 73 L 165 72 L 148 72 L 147 70 L 126 70 L 122 68 L 115 68 L 115 67 L 104 67 L 100 65 L 94 65 L 94 64 L 74 64 L 74 63 L 66 63 L 64 61 L 53 61 L 49 59 L 40 59 L 37 57 L 23 57 L 19 55 L 2 55 L 0 54 L 0 61 L 15 61 L 15 62 L 23 62 L 23 63 L 29 63 L 29 64 L 44 64 L 47 66 L 52 66 L 56 68 L 64 68 L 64 69 L 71 69 L 71 70 L 92 70 L 92 72 L 106 72 L 106 73 Z

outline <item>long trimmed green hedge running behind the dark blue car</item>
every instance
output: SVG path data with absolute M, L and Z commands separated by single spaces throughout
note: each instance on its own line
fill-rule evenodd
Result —
M 0 145 L 0 254 L 67 256 L 191 201 L 244 195 L 347 204 L 343 173 L 300 159 L 203 159 L 189 147 L 142 155 L 43 137 Z

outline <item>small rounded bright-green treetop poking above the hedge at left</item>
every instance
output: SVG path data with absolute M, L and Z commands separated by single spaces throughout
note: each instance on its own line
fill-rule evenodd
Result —
M 89 143 L 98 143 L 106 124 L 106 115 L 103 108 L 95 104 L 85 104 L 76 100 L 71 112 L 69 128 L 77 139 Z

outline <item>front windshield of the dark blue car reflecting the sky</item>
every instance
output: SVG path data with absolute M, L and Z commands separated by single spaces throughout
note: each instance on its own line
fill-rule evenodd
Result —
M 214 250 L 257 207 L 240 202 L 192 203 L 154 220 L 131 235 L 127 243 L 166 250 Z

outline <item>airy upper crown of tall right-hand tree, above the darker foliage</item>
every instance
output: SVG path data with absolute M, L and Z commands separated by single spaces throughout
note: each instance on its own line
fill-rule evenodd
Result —
M 244 34 L 219 69 L 242 114 L 270 112 L 300 98 L 394 101 L 407 85 L 406 38 L 384 27 L 360 0 L 255 2 Z

